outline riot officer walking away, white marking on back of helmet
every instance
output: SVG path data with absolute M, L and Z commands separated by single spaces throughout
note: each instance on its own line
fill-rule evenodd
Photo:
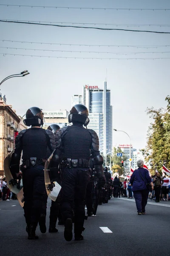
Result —
M 105 184 L 103 158 L 99 154 L 99 138 L 95 131 L 85 129 L 90 120 L 88 109 L 81 104 L 75 105 L 68 116 L 73 125 L 61 128 L 56 134 L 56 159 L 62 166 L 61 211 L 65 221 L 64 237 L 71 241 L 72 221 L 74 218 L 74 238 L 82 240 L 85 220 L 85 193 L 89 180 L 90 154 L 99 177 L 99 186 Z

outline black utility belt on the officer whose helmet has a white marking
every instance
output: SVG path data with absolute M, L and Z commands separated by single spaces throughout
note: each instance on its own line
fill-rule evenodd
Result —
M 62 160 L 61 167 L 66 168 L 89 168 L 89 160 L 87 159 L 70 159 Z

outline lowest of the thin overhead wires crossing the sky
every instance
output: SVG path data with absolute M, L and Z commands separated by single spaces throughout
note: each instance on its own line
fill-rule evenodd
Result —
M 90 57 L 61 57 L 61 56 L 43 56 L 43 55 L 27 55 L 27 54 L 13 54 L 2 53 L 1 55 L 13 55 L 13 56 L 28 56 L 28 57 L 40 57 L 40 58 L 65 58 L 65 59 L 97 59 L 97 60 L 158 60 L 158 59 L 170 59 L 170 57 L 164 58 L 90 58 Z

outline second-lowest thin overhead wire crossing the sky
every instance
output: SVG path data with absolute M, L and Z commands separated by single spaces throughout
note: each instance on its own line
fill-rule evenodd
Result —
M 42 51 L 42 52 L 78 52 L 78 53 L 106 53 L 115 55 L 132 55 L 132 54 L 144 54 L 144 53 L 170 53 L 170 52 L 99 52 L 99 51 L 71 51 L 71 50 L 55 50 L 55 49 L 31 49 L 31 48 L 20 48 L 20 47 L 3 47 L 3 49 L 15 49 L 15 50 L 31 50 L 31 51 Z

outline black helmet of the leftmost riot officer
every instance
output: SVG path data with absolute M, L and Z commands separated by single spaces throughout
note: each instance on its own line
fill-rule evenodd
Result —
M 41 126 L 44 123 L 43 116 L 44 113 L 42 113 L 40 108 L 32 107 L 26 111 L 26 119 L 24 119 L 23 122 L 27 126 Z

